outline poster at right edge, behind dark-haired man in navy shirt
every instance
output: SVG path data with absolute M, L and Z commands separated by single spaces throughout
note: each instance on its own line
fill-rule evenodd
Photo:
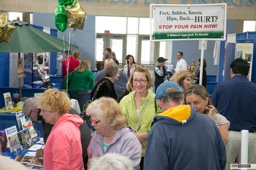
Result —
M 252 79 L 252 61 L 253 61 L 253 39 L 236 39 L 235 59 L 242 58 L 250 64 L 248 80 Z

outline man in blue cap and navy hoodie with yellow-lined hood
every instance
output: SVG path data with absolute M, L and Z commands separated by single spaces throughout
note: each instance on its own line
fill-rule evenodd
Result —
M 148 134 L 144 169 L 225 169 L 225 145 L 207 115 L 184 105 L 184 92 L 175 82 L 159 85 L 156 99 L 163 110 Z

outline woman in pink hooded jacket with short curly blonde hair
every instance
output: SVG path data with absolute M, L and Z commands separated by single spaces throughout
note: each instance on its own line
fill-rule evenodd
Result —
M 70 100 L 65 92 L 46 90 L 38 101 L 40 115 L 54 124 L 44 147 L 44 169 L 84 169 L 79 126 L 83 120 L 71 115 Z

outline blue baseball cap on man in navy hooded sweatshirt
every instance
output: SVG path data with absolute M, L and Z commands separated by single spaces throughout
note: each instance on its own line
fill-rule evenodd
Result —
M 156 89 L 156 99 L 161 97 L 168 97 L 168 94 L 165 93 L 165 90 L 170 87 L 174 87 L 175 89 L 179 90 L 179 92 L 183 92 L 183 89 L 177 83 L 173 81 L 164 81 Z

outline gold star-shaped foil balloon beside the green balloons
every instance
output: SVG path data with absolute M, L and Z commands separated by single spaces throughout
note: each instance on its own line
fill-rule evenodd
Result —
M 70 8 L 66 8 L 66 13 L 68 18 L 68 27 L 72 27 L 75 30 L 77 28 L 83 29 L 87 15 L 77 1 Z

